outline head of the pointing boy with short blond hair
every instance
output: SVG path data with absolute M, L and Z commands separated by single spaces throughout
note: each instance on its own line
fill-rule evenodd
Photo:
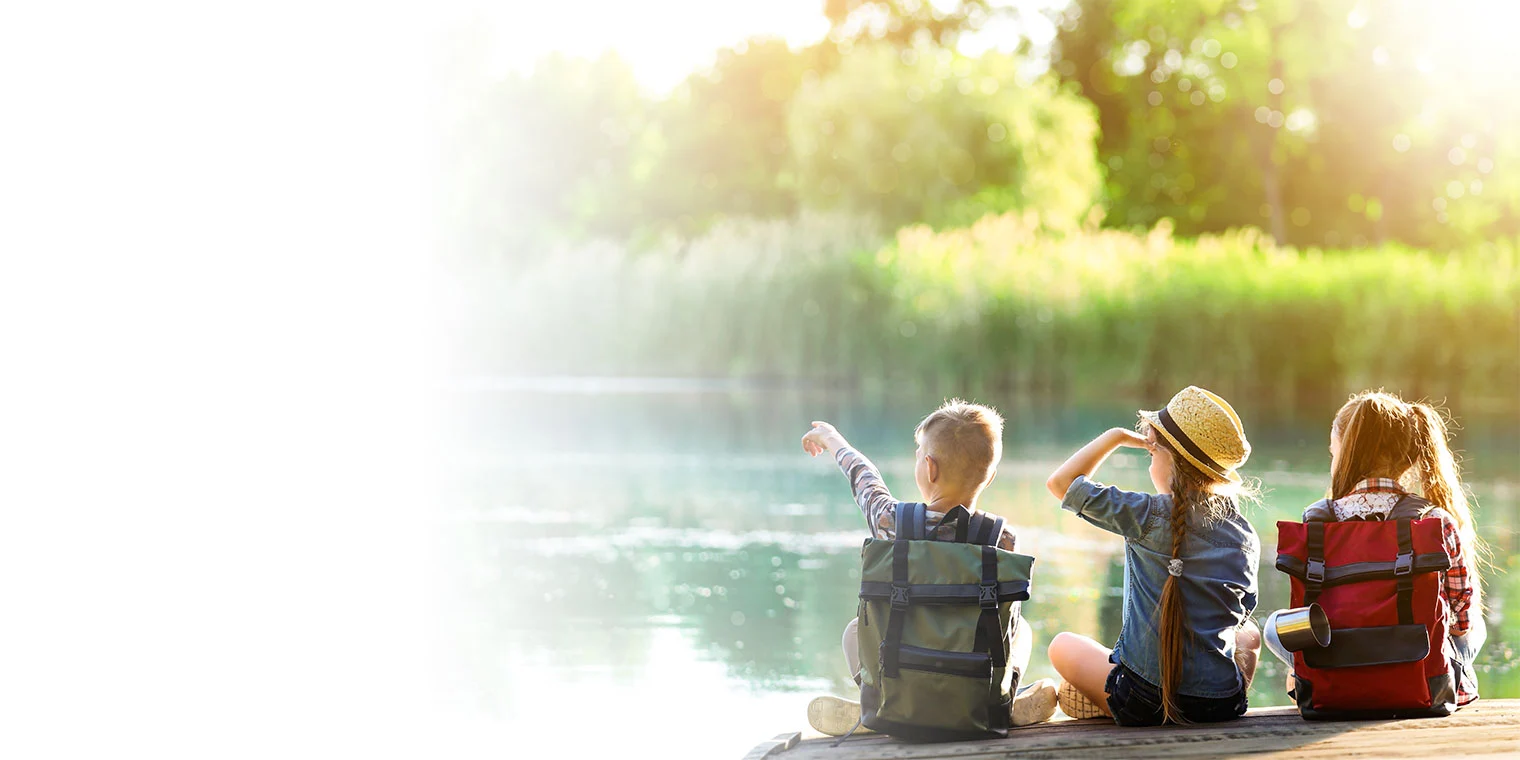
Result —
M 918 423 L 914 439 L 935 458 L 947 485 L 980 489 L 1003 458 L 1003 418 L 990 406 L 952 398 Z

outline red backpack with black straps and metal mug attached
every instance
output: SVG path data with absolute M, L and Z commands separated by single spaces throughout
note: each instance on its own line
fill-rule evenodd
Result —
M 1430 502 L 1404 496 L 1386 520 L 1336 521 L 1328 502 L 1277 523 L 1277 568 L 1292 605 L 1318 602 L 1330 644 L 1294 654 L 1292 696 L 1309 720 L 1446 716 L 1456 710 L 1447 605 L 1450 567 Z

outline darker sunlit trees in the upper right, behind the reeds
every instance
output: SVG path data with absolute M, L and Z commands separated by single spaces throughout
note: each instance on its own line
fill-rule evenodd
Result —
M 1520 108 L 1505 93 L 1520 65 L 1432 36 L 1450 12 L 1078 0 L 1053 67 L 1097 106 L 1111 223 L 1446 248 L 1520 233 Z

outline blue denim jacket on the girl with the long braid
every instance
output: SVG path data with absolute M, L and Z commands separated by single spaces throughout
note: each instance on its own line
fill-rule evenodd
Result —
M 1172 559 L 1172 497 L 1137 494 L 1078 477 L 1061 508 L 1125 537 L 1125 611 L 1114 655 L 1152 686 L 1161 682 L 1161 588 Z M 1183 537 L 1183 614 L 1196 638 L 1178 693 L 1234 696 L 1245 682 L 1234 664 L 1236 629 L 1256 611 L 1262 543 L 1239 512 L 1190 524 Z

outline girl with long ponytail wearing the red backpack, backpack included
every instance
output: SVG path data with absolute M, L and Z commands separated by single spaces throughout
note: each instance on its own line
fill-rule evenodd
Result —
M 1294 605 L 1318 603 L 1330 625 L 1325 646 L 1297 655 L 1274 635 L 1280 613 L 1265 625 L 1304 717 L 1449 714 L 1477 699 L 1482 544 L 1435 409 L 1353 395 L 1330 427 L 1328 499 L 1278 535 Z

